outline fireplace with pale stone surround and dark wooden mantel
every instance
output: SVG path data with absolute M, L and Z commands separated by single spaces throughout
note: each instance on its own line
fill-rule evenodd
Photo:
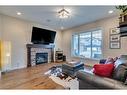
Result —
M 31 67 L 42 63 L 54 62 L 54 45 L 27 44 L 26 47 L 27 67 Z M 39 57 L 39 55 L 41 57 Z M 36 59 L 36 57 L 38 57 L 38 59 Z

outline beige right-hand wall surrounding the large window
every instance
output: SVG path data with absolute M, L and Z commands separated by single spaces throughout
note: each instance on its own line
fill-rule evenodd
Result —
M 121 54 L 127 54 L 127 38 L 121 39 L 121 49 L 110 49 L 109 48 L 109 30 L 110 28 L 117 27 L 118 24 L 118 17 L 111 17 L 111 18 L 105 18 L 102 20 L 98 20 L 89 24 L 81 25 L 75 28 L 71 28 L 69 30 L 63 31 L 63 50 L 64 53 L 67 56 L 68 60 L 71 59 L 79 59 L 74 58 L 71 56 L 71 39 L 72 34 L 75 32 L 82 32 L 82 31 L 88 31 L 91 29 L 96 29 L 98 27 L 101 27 L 103 29 L 103 57 L 115 57 L 119 56 Z M 86 59 L 86 63 L 97 63 L 98 61 Z

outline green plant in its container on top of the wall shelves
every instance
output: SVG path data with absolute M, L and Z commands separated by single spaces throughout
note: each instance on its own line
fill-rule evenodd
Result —
M 120 23 L 127 21 L 127 6 L 126 5 L 119 5 L 116 6 L 116 9 L 120 11 Z

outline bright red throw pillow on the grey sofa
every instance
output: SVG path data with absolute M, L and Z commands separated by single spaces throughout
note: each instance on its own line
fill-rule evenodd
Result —
M 93 66 L 94 73 L 103 77 L 111 77 L 114 69 L 114 64 L 95 64 Z

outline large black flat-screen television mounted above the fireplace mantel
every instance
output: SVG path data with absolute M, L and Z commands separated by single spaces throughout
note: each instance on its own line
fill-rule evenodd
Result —
M 33 44 L 50 44 L 54 43 L 55 36 L 55 31 L 33 27 L 31 42 Z

